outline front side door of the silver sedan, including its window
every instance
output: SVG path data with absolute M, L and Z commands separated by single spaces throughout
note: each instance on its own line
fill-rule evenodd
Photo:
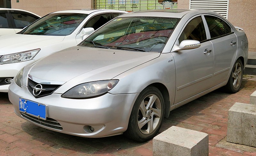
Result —
M 183 40 L 188 39 L 200 41 L 201 46 L 196 49 L 172 52 L 176 67 L 174 104 L 214 86 L 212 82 L 213 46 L 207 40 L 201 16 L 188 21 L 175 44 L 179 46 Z

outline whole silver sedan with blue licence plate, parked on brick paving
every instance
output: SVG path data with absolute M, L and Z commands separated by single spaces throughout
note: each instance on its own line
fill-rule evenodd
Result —
M 131 12 L 22 68 L 9 99 L 52 131 L 146 141 L 171 110 L 222 86 L 237 92 L 247 57 L 244 31 L 217 13 Z

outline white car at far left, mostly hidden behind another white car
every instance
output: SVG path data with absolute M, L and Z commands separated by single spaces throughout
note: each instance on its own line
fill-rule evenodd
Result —
M 25 10 L 0 8 L 0 36 L 20 32 L 40 16 Z

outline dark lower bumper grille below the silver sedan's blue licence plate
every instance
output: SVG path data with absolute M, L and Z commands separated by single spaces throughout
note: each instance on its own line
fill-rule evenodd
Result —
M 54 128 L 54 129 L 57 129 L 57 130 L 62 130 L 62 126 L 60 125 L 60 123 L 52 118 L 46 118 L 46 120 L 42 120 L 42 119 L 39 119 L 37 117 L 33 117 L 31 115 L 28 115 L 28 114 L 25 114 L 25 113 L 22 113 L 21 112 L 21 116 L 30 120 L 30 121 L 33 121 L 37 124 L 41 124 L 43 126 L 46 126 L 46 127 L 49 127 L 49 128 Z

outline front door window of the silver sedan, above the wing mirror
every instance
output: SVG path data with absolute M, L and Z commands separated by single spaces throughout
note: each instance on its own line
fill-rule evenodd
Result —
M 197 41 L 206 40 L 206 32 L 201 16 L 192 19 L 180 35 L 179 43 L 183 40 L 192 39 Z

